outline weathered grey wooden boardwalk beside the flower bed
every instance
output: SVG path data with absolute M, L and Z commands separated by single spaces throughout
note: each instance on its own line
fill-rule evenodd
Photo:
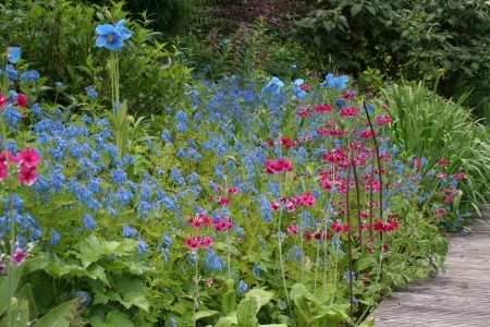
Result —
M 451 235 L 445 272 L 385 298 L 371 313 L 376 327 L 490 327 L 490 207 Z

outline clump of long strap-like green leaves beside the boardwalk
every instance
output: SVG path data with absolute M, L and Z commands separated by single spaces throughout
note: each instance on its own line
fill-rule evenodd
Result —
M 453 221 L 448 221 L 451 229 L 461 226 L 464 217 L 458 210 L 463 211 L 469 204 L 476 207 L 490 192 L 490 148 L 485 126 L 461 106 L 464 98 L 457 102 L 442 99 L 422 83 L 393 85 L 382 95 L 394 119 L 390 130 L 394 145 L 402 156 L 424 160 L 420 172 L 427 189 L 420 194 L 421 204 L 439 196 L 439 205 L 452 203 L 455 194 L 446 197 L 431 194 L 429 190 L 437 184 L 450 189 L 457 183 L 454 177 L 457 178 L 462 169 L 466 172 L 466 183 L 461 185 L 463 193 L 456 196 L 458 202 L 454 205 L 456 216 Z M 441 161 L 442 158 L 446 162 Z M 442 173 L 445 166 L 448 169 Z

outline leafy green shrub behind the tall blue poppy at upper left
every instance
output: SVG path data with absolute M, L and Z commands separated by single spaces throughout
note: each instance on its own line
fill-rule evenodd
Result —
M 73 95 L 95 86 L 108 105 L 108 52 L 95 47 L 94 29 L 98 22 L 115 24 L 125 19 L 122 7 L 120 2 L 109 11 L 64 0 L 8 1 L 0 7 L 0 28 L 9 33 L 0 35 L 0 43 L 21 47 L 29 58 L 29 68 L 45 76 L 47 87 L 38 95 L 44 100 L 57 98 L 72 110 L 79 109 L 83 99 Z M 133 38 L 120 55 L 121 99 L 127 99 L 131 114 L 162 112 L 182 97 L 191 80 L 192 69 L 181 63 L 180 45 L 158 41 L 158 33 L 148 29 L 148 24 L 146 19 L 127 22 Z M 58 92 L 56 82 L 65 87 Z

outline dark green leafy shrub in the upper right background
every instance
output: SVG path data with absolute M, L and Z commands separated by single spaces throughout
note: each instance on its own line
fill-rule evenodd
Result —
M 320 1 L 292 36 L 322 71 L 358 74 L 368 68 L 392 78 L 439 81 L 438 92 L 460 97 L 488 116 L 489 5 L 483 1 Z

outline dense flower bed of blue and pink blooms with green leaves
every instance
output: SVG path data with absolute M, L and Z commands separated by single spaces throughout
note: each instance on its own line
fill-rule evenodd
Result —
M 383 294 L 443 267 L 483 153 L 412 149 L 393 95 L 332 73 L 182 74 L 140 116 L 121 68 L 151 33 L 103 12 L 106 80 L 84 94 L 2 50 L 0 324 L 371 326 Z

